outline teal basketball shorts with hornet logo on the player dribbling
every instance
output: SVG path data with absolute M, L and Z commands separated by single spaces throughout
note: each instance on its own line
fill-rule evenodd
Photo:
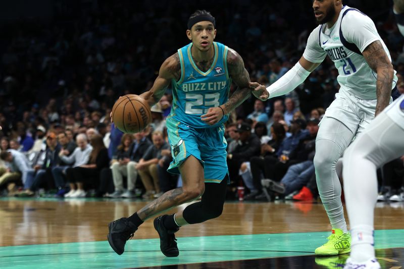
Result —
M 192 155 L 204 167 L 205 182 L 220 183 L 228 174 L 224 126 L 195 129 L 171 117 L 166 123 L 173 156 L 167 171 L 179 174 L 178 167 Z

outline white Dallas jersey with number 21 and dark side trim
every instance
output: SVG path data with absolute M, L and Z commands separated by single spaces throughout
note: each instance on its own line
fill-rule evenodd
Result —
M 359 10 L 343 6 L 331 28 L 322 24 L 313 30 L 303 57 L 312 63 L 321 63 L 328 55 L 338 69 L 340 92 L 346 91 L 364 100 L 376 99 L 377 74 L 362 56 L 365 48 L 376 40 L 382 43 L 391 61 L 390 53 L 373 21 Z M 392 88 L 397 82 L 395 73 Z

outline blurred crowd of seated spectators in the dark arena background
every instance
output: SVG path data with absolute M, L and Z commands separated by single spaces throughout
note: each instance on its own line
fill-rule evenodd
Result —
M 346 3 L 345 3 L 346 2 Z M 2 25 L 0 190 L 3 195 L 159 197 L 181 186 L 165 118 L 171 89 L 152 107 L 153 123 L 123 134 L 110 123 L 118 96 L 149 89 L 163 61 L 186 45 L 188 16 L 216 17 L 216 41 L 243 58 L 251 81 L 270 85 L 302 54 L 316 27 L 311 2 L 55 1 L 51 20 Z M 390 50 L 404 93 L 404 38 L 388 2 L 344 1 L 368 14 Z M 327 58 L 287 96 L 247 99 L 226 125 L 232 184 L 246 200 L 317 197 L 313 156 L 318 123 L 338 92 Z M 234 87 L 232 88 L 232 91 Z M 230 93 L 231 94 L 231 93 Z M 379 199 L 404 199 L 403 159 L 380 170 Z

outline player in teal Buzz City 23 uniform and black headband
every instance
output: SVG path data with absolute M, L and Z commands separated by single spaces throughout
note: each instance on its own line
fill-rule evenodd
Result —
M 209 12 L 192 14 L 186 35 L 191 43 L 163 63 L 151 89 L 141 94 L 151 106 L 171 84 L 173 104 L 166 121 L 173 161 L 168 171 L 180 173 L 183 186 L 109 224 L 108 241 L 119 255 L 144 221 L 202 196 L 201 201 L 154 220 L 161 251 L 178 256 L 174 233 L 181 226 L 217 218 L 223 210 L 229 180 L 223 123 L 250 96 L 249 75 L 236 51 L 214 42 L 215 18 Z M 232 80 L 238 89 L 228 98 Z

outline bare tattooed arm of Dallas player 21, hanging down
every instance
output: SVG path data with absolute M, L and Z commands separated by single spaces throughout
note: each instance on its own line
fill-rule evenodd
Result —
M 379 40 L 372 42 L 362 52 L 369 67 L 377 73 L 376 81 L 376 113 L 377 116 L 390 102 L 391 86 L 393 83 L 394 69 Z

